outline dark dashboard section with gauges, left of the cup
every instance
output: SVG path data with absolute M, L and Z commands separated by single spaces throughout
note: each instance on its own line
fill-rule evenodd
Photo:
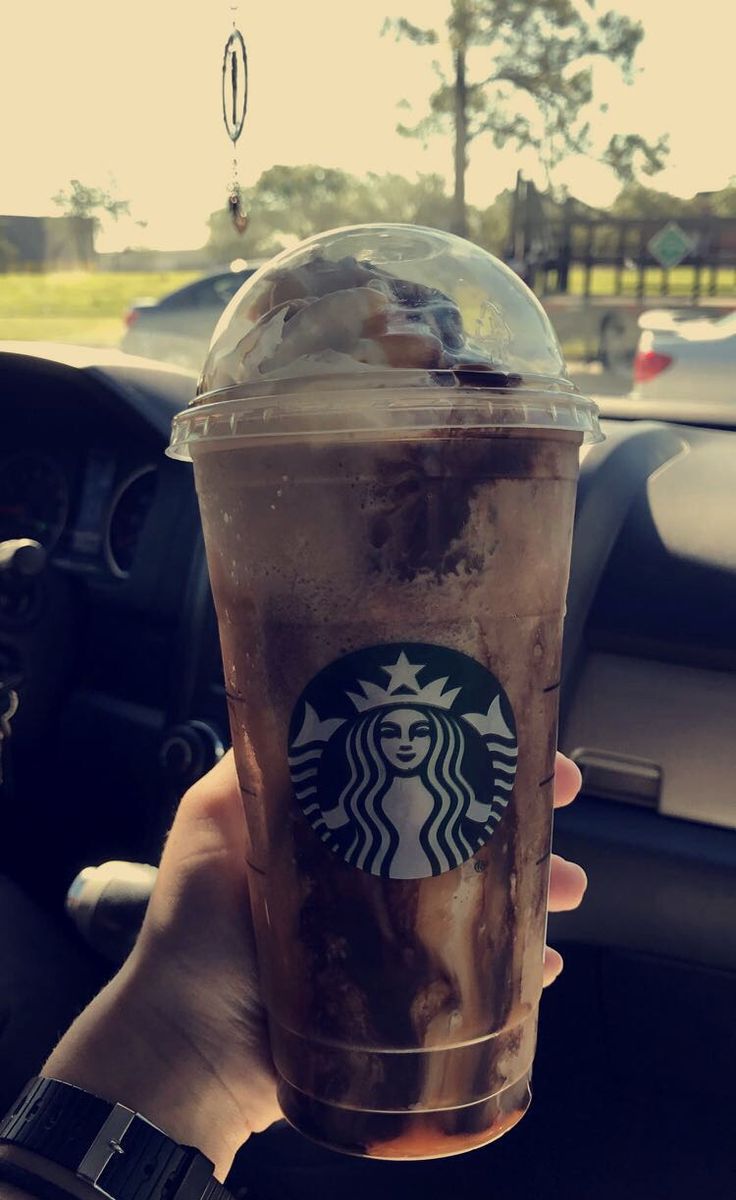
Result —
M 154 860 L 197 766 L 167 742 L 193 702 L 191 647 L 216 662 L 216 634 L 191 473 L 163 454 L 195 383 L 121 354 L 0 355 L 0 540 L 47 556 L 0 578 L 0 679 L 20 695 L 0 854 L 49 902 L 88 862 Z

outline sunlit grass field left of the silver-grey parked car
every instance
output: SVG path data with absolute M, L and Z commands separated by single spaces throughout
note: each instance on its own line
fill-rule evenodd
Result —
M 134 300 L 158 298 L 202 271 L 55 271 L 0 275 L 0 340 L 116 346 Z

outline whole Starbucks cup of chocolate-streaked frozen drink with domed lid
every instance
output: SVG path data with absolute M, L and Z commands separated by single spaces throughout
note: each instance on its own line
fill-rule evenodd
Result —
M 525 284 L 335 230 L 263 268 L 174 422 L 191 458 L 286 1117 L 460 1153 L 529 1103 L 579 448 Z

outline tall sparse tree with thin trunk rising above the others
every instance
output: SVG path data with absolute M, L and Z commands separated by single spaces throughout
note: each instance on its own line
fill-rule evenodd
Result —
M 443 40 L 437 30 L 405 18 L 388 20 L 388 30 L 420 47 Z M 586 116 L 593 102 L 593 61 L 608 60 L 630 83 L 644 30 L 616 12 L 597 17 L 593 0 L 450 0 L 444 36 L 451 66 L 433 64 L 439 83 L 429 113 L 397 128 L 420 138 L 451 130 L 454 228 L 466 235 L 471 143 L 487 133 L 498 148 L 533 148 L 549 181 L 566 155 L 591 150 Z M 636 167 L 645 174 L 662 169 L 666 152 L 664 138 L 650 145 L 639 134 L 617 134 L 603 161 L 626 181 Z

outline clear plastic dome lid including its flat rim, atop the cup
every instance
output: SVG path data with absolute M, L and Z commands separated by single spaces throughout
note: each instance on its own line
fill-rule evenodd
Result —
M 226 426 L 249 437 L 264 422 L 305 431 L 310 412 L 324 427 L 325 406 L 342 406 L 341 428 L 375 421 L 382 404 L 396 425 L 409 412 L 413 424 L 432 424 L 448 390 L 468 421 L 485 397 L 492 407 L 473 418 L 483 425 L 600 437 L 549 317 L 510 268 L 437 229 L 331 229 L 265 263 L 233 296 L 169 452 L 185 457 L 192 439 L 222 437 Z

